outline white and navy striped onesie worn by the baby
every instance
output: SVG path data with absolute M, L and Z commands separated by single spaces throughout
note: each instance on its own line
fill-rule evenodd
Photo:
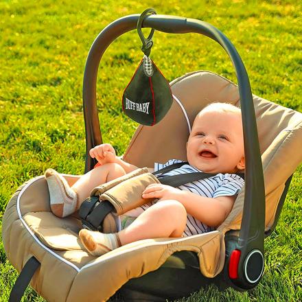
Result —
M 166 163 L 154 163 L 154 172 L 161 170 L 163 167 L 167 167 L 168 165 L 172 165 L 173 163 L 183 163 L 183 161 L 180 161 L 178 159 L 170 159 L 170 161 L 167 161 Z M 170 172 L 161 174 L 161 176 L 172 176 L 172 175 L 187 174 L 192 172 L 201 172 L 201 171 L 196 169 L 196 167 L 192 167 L 189 164 L 185 164 Z M 216 198 L 219 196 L 233 196 L 237 194 L 240 191 L 240 189 L 242 189 L 243 185 L 244 185 L 244 180 L 240 176 L 236 174 L 219 173 L 216 174 L 216 176 L 212 176 L 210 178 L 204 178 L 200 181 L 186 183 L 185 185 L 181 185 L 178 188 L 182 190 L 191 191 L 192 193 L 198 194 L 200 196 Z M 134 211 L 132 210 L 130 212 L 133 212 L 133 214 L 136 214 L 135 216 L 137 216 L 139 212 L 142 213 L 142 211 L 145 211 L 146 209 L 148 209 L 148 207 L 154 205 L 155 202 L 149 202 L 148 204 L 141 206 L 140 207 L 141 209 L 135 209 Z M 206 233 L 209 231 L 213 231 L 213 228 L 208 227 L 200 220 L 197 220 L 193 216 L 187 214 L 187 225 L 185 227 L 183 237 L 196 235 L 200 233 Z

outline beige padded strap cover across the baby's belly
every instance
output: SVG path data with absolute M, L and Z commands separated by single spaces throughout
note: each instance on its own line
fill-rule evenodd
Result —
M 122 215 L 152 200 L 141 197 L 144 189 L 152 183 L 159 183 L 159 181 L 150 172 L 137 175 L 108 189 L 100 195 L 100 200 L 111 202 L 117 215 Z

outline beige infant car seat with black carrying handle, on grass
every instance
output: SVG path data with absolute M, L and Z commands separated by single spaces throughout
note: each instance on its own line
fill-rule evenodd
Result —
M 138 19 L 139 15 L 131 15 L 114 21 L 97 36 L 89 51 L 83 86 L 85 172 L 95 165 L 88 154 L 90 148 L 102 143 L 96 106 L 100 59 L 115 38 L 135 30 Z M 216 231 L 141 240 L 93 257 L 78 238 L 78 217 L 54 216 L 44 176 L 33 178 L 19 187 L 3 216 L 5 252 L 22 271 L 11 301 L 21 297 L 32 275 L 32 288 L 47 301 L 72 302 L 106 301 L 117 290 L 128 301 L 165 301 L 187 296 L 209 283 L 247 290 L 262 277 L 264 236 L 275 228 L 290 178 L 302 160 L 302 114 L 252 95 L 240 56 L 215 27 L 164 15 L 146 16 L 143 27 L 175 34 L 196 32 L 216 40 L 233 62 L 238 86 L 209 71 L 188 73 L 172 81 L 172 108 L 159 124 L 138 127 L 124 159 L 139 167 L 170 158 L 186 160 L 185 143 L 196 113 L 210 102 L 231 102 L 242 108 L 244 189 Z M 163 144 L 165 148 L 161 148 Z M 79 178 L 64 176 L 70 185 Z

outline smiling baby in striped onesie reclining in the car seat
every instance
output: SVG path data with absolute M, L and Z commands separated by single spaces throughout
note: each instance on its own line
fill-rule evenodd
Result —
M 96 146 L 89 154 L 97 159 L 98 166 L 84 174 L 72 187 L 56 171 L 48 169 L 45 172 L 51 211 L 56 216 L 65 217 L 77 211 L 97 185 L 137 169 L 135 165 L 119 159 L 108 143 Z M 245 166 L 240 109 L 226 103 L 213 103 L 202 109 L 194 120 L 187 141 L 187 161 L 188 164 L 163 175 L 207 172 L 216 176 L 178 188 L 149 185 L 142 197 L 156 199 L 122 216 L 122 226 L 123 220 L 132 218 L 128 227 L 111 234 L 86 229 L 80 231 L 80 240 L 87 251 L 92 255 L 103 255 L 137 240 L 185 237 L 219 226 L 229 215 L 235 196 L 244 185 L 243 179 L 235 174 Z M 165 164 L 155 163 L 154 169 L 149 170 L 157 171 L 176 162 L 181 161 L 172 159 Z

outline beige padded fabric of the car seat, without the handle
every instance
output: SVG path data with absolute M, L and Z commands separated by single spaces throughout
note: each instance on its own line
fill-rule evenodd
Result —
M 189 73 L 171 84 L 190 124 L 194 115 L 209 102 L 238 104 L 239 101 L 235 84 L 207 71 Z M 269 231 L 275 222 L 285 183 L 302 161 L 302 114 L 257 96 L 253 99 L 264 167 L 266 231 Z M 160 124 L 152 128 L 139 126 L 124 159 L 141 167 L 150 166 L 154 161 L 165 162 L 170 157 L 186 160 L 189 124 L 181 104 L 174 101 Z M 167 139 L 175 132 L 178 139 Z M 152 138 L 152 148 L 146 143 L 148 138 Z M 157 150 L 163 141 L 165 148 L 159 154 Z M 172 146 L 167 146 L 167 141 Z M 138 156 L 141 152 L 148 153 L 148 159 Z M 65 177 L 69 184 L 78 179 L 78 176 Z M 129 279 L 160 268 L 178 251 L 196 253 L 202 275 L 216 277 L 224 266 L 224 234 L 240 229 L 243 200 L 244 189 L 217 231 L 179 239 L 142 240 L 102 257 L 93 257 L 86 253 L 78 239 L 80 220 L 60 219 L 51 213 L 47 183 L 43 176 L 38 176 L 22 185 L 10 200 L 3 216 L 3 244 L 8 259 L 19 271 L 32 255 L 38 259 L 41 265 L 31 285 L 47 301 L 106 301 Z

